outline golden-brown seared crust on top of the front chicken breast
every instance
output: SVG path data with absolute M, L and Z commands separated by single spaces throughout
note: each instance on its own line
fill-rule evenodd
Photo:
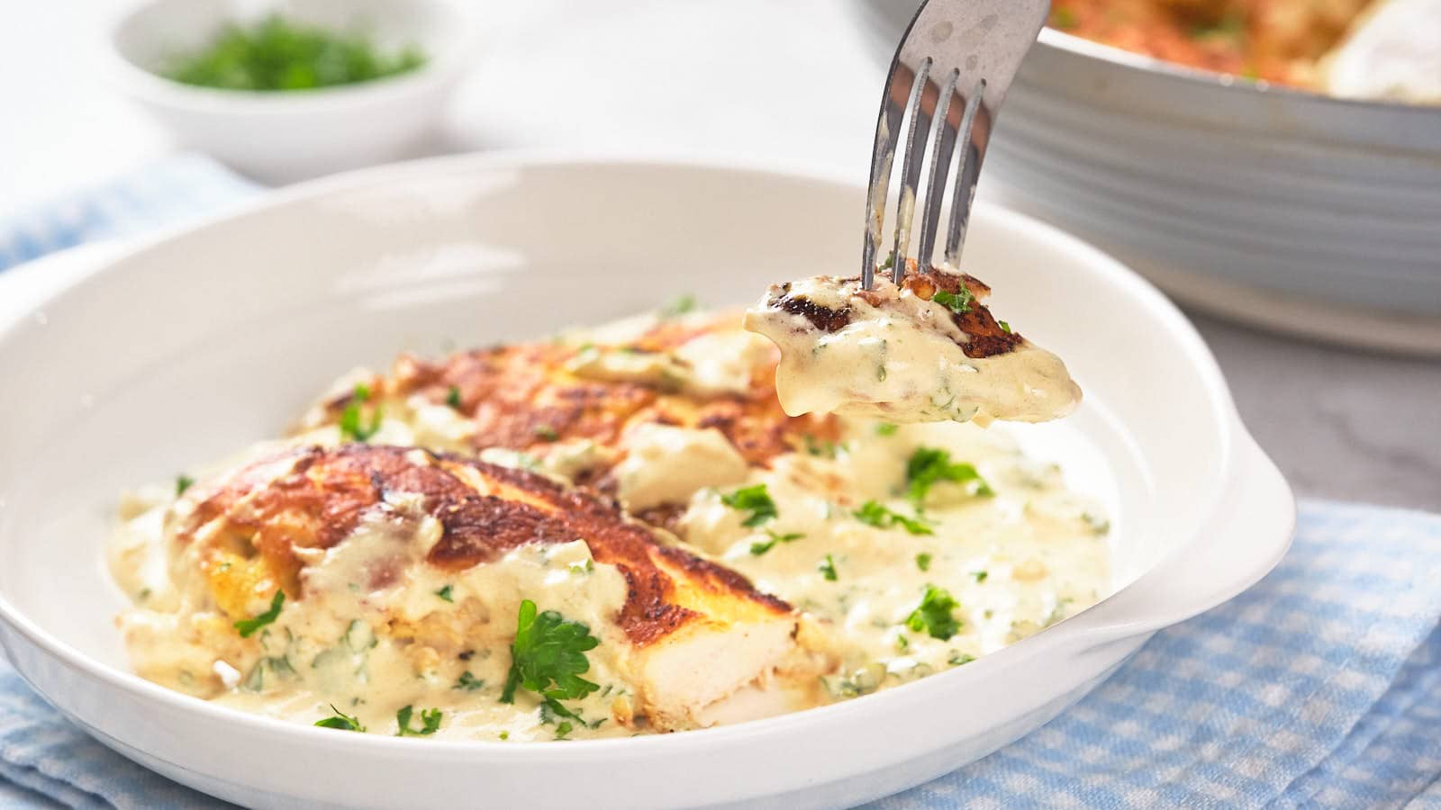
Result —
M 617 624 L 638 647 L 706 621 L 712 611 L 733 621 L 791 611 L 739 574 L 657 543 L 648 529 L 589 491 L 416 448 L 304 447 L 255 463 L 205 493 L 177 536 L 195 542 L 205 528 L 203 542 L 222 553 L 258 555 L 278 587 L 303 598 L 304 562 L 297 549 L 344 542 L 362 516 L 385 512 L 393 494 L 419 497 L 419 509 L 440 522 L 440 540 L 425 561 L 442 569 L 483 565 L 523 545 L 584 539 L 597 562 L 615 565 L 625 577 L 628 594 Z M 380 588 L 398 572 L 373 575 L 367 585 Z

